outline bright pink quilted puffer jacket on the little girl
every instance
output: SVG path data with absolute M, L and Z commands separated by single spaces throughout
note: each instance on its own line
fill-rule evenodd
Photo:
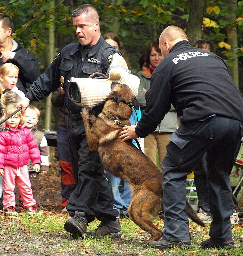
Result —
M 21 167 L 29 163 L 40 164 L 40 151 L 33 138 L 32 132 L 26 127 L 0 128 L 0 168 L 11 166 Z

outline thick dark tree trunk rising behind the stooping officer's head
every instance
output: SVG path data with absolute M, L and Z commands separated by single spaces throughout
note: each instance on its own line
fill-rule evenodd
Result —
M 195 42 L 202 38 L 202 22 L 206 0 L 191 0 L 190 2 L 191 8 L 186 34 L 188 36 L 188 40 L 192 46 L 194 46 Z

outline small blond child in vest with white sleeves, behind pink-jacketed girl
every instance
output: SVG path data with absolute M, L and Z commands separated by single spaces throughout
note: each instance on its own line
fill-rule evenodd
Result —
M 30 105 L 26 109 L 24 116 L 26 121 L 26 127 L 32 132 L 33 137 L 37 142 L 38 148 L 40 150 L 41 173 L 47 174 L 49 169 L 49 160 L 47 155 L 47 140 L 46 140 L 46 137 L 44 136 L 44 133 L 37 130 L 37 123 L 38 123 L 38 118 L 40 117 L 40 111 L 38 108 Z M 41 207 L 40 206 L 40 189 L 39 189 L 39 172 L 33 170 L 31 159 L 29 160 L 28 171 L 29 171 L 29 179 L 30 179 L 32 194 L 36 201 L 37 209 L 39 209 Z M 15 198 L 17 199 L 16 200 L 16 205 L 17 205 L 19 203 L 18 201 L 19 192 L 18 192 L 17 186 L 15 187 L 14 192 L 15 192 L 14 193 Z M 22 206 L 22 199 L 20 199 L 19 208 L 24 209 Z

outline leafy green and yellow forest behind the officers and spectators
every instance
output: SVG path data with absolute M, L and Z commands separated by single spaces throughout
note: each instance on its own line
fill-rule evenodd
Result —
M 177 25 L 192 45 L 200 38 L 213 43 L 214 53 L 226 60 L 243 92 L 243 1 L 1 0 L 0 14 L 12 18 L 13 39 L 34 52 L 43 73 L 65 45 L 77 41 L 71 12 L 84 3 L 97 9 L 102 34 L 119 36 L 133 74 L 140 71 L 138 59 L 147 46 L 158 40 L 165 27 Z M 50 97 L 36 104 L 42 113 L 39 129 L 55 130 L 58 112 L 52 109 Z

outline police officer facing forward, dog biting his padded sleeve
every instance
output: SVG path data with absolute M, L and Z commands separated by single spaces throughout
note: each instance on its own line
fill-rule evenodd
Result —
M 119 51 L 101 36 L 95 8 L 83 4 L 73 11 L 72 17 L 79 42 L 64 47 L 44 74 L 32 84 L 26 98 L 19 104 L 22 111 L 29 102 L 44 99 L 55 91 L 60 86 L 60 77 L 62 87 L 67 91 L 71 77 L 88 78 L 94 72 L 108 74 L 113 63 L 127 68 Z M 89 235 L 119 237 L 122 228 L 117 219 L 118 212 L 113 209 L 113 199 L 103 176 L 104 167 L 100 157 L 98 153 L 91 153 L 87 144 L 81 107 L 72 103 L 67 93 L 66 103 L 69 110 L 67 130 L 70 158 L 77 187 L 66 206 L 71 218 L 66 221 L 64 228 L 76 238 L 86 233 L 88 222 L 97 217 L 101 224 Z M 96 114 L 101 111 L 99 108 L 94 110 Z

